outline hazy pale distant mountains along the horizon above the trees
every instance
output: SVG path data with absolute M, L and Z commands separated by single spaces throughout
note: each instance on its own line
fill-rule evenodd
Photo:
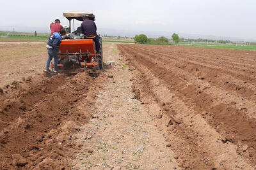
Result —
M 48 33 L 50 32 L 49 27 L 22 27 L 22 26 L 0 26 L 0 31 L 18 31 L 18 32 L 38 32 L 38 33 Z M 128 31 L 120 29 L 108 29 L 108 28 L 98 28 L 100 35 L 108 36 L 127 36 L 134 37 L 136 34 L 145 34 L 148 38 L 159 38 L 164 36 L 166 38 L 171 38 L 172 31 Z M 225 36 L 211 36 L 211 35 L 202 35 L 202 34 L 186 34 L 182 32 L 177 32 L 181 38 L 190 38 L 190 39 L 213 39 L 213 40 L 230 40 L 230 41 L 250 41 L 255 42 L 256 39 L 253 38 L 233 38 Z

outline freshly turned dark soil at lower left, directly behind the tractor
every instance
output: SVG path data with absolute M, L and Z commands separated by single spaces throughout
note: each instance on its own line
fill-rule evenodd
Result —
M 69 169 L 104 77 L 38 74 L 0 89 L 0 169 Z

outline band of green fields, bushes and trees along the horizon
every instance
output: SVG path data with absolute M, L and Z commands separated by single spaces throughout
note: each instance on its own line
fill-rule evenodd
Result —
M 47 41 L 49 34 L 40 34 L 36 31 L 33 33 L 26 32 L 6 32 L 0 31 L 0 41 Z M 174 39 L 176 40 L 174 40 Z M 178 34 L 173 34 L 173 43 L 179 43 L 181 46 L 198 46 L 205 48 L 225 48 L 232 50 L 256 50 L 256 42 L 232 42 L 229 40 L 212 40 L 212 39 L 185 39 L 179 38 Z M 177 39 L 179 41 L 177 41 Z M 170 39 L 163 36 L 159 38 L 147 38 L 146 35 L 136 35 L 135 38 L 122 36 L 103 36 L 103 42 L 111 43 L 145 43 L 147 45 L 173 45 Z

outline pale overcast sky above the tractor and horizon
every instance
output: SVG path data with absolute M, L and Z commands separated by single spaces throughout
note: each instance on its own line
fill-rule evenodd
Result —
M 255 0 L 3 0 L 0 30 L 68 25 L 63 12 L 92 11 L 98 28 L 256 39 L 255 8 Z

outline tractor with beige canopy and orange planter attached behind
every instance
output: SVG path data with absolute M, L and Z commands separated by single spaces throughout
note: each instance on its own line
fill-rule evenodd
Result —
M 100 52 L 96 53 L 95 43 L 93 39 L 84 39 L 81 32 L 74 31 L 71 33 L 71 20 L 83 21 L 83 17 L 87 16 L 90 20 L 95 20 L 93 13 L 82 11 L 67 11 L 63 13 L 69 21 L 69 27 L 66 27 L 68 32 L 67 36 L 70 39 L 63 39 L 60 44 L 60 52 L 58 53 L 58 71 L 72 72 L 78 68 L 87 71 L 90 76 L 99 76 L 99 68 L 103 68 L 102 57 L 102 38 L 100 39 Z M 75 37 L 75 38 L 72 38 Z M 54 64 L 50 65 L 52 71 L 54 71 Z

